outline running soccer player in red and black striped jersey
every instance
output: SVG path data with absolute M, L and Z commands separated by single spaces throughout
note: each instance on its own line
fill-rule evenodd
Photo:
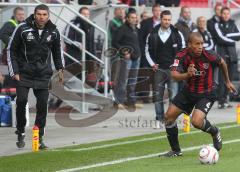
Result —
M 185 86 L 170 104 L 165 114 L 165 127 L 171 151 L 164 156 L 181 156 L 178 141 L 178 127 L 175 122 L 181 113 L 190 115 L 195 128 L 209 133 L 213 138 L 213 145 L 219 151 L 222 148 L 220 131 L 207 120 L 207 114 L 216 100 L 216 85 L 214 83 L 214 69 L 219 67 L 223 72 L 225 84 L 230 92 L 235 92 L 230 82 L 225 61 L 214 52 L 203 48 L 201 34 L 191 33 L 188 47 L 177 53 L 171 66 L 171 76 L 177 81 L 184 80 Z

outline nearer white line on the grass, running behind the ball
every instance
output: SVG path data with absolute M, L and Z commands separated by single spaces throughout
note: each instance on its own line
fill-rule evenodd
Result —
M 230 144 L 230 143 L 237 143 L 237 142 L 240 142 L 240 139 L 228 140 L 228 141 L 223 142 L 223 144 Z M 182 152 L 193 151 L 196 149 L 200 149 L 203 146 L 204 145 L 183 148 Z M 61 170 L 61 171 L 57 171 L 57 172 L 76 172 L 76 171 L 86 170 L 86 169 L 90 169 L 90 168 L 103 167 L 103 166 L 108 166 L 108 165 L 121 164 L 121 163 L 129 162 L 129 161 L 153 158 L 153 157 L 156 157 L 159 155 L 163 155 L 165 153 L 166 153 L 166 151 L 160 152 L 160 153 L 155 153 L 155 154 L 148 154 L 148 155 L 144 155 L 144 156 L 123 158 L 123 159 L 119 159 L 119 160 L 115 160 L 115 161 L 108 161 L 108 162 L 97 163 L 97 164 L 92 164 L 92 165 L 87 165 L 87 166 L 82 166 L 82 167 L 77 167 L 77 168 L 65 169 L 65 170 Z

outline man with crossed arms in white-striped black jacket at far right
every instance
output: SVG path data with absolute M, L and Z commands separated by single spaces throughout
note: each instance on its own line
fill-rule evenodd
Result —
M 230 18 L 230 9 L 223 7 L 221 10 L 221 19 L 219 23 L 215 23 L 213 37 L 216 41 L 217 53 L 226 61 L 228 66 L 229 78 L 232 80 L 234 73 L 233 67 L 237 63 L 236 41 L 240 40 L 240 30 L 236 26 L 234 20 Z M 219 73 L 219 100 L 218 108 L 232 107 L 227 102 L 227 88 L 223 84 L 223 75 Z

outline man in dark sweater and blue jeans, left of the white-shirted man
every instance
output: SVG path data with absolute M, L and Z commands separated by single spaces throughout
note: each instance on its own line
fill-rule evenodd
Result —
M 140 64 L 141 50 L 139 45 L 139 30 L 137 28 L 137 13 L 135 9 L 129 9 L 126 14 L 126 22 L 119 28 L 114 37 L 113 47 L 119 51 L 120 70 L 114 83 L 115 105 L 122 109 L 138 107 L 135 87 L 137 83 L 138 68 Z

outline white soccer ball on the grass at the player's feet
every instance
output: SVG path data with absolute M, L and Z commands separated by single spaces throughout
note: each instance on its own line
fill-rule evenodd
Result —
M 218 158 L 218 151 L 212 146 L 204 146 L 199 152 L 199 161 L 201 164 L 216 164 Z

